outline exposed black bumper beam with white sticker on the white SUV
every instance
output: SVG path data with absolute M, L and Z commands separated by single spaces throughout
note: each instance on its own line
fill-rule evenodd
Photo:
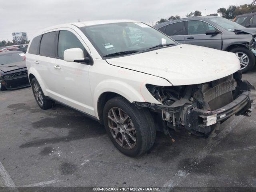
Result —
M 213 111 L 188 107 L 184 115 L 185 128 L 192 132 L 207 134 L 213 130 L 212 126 L 224 122 L 234 114 L 247 115 L 252 103 L 249 93 L 243 91 L 233 102 Z

